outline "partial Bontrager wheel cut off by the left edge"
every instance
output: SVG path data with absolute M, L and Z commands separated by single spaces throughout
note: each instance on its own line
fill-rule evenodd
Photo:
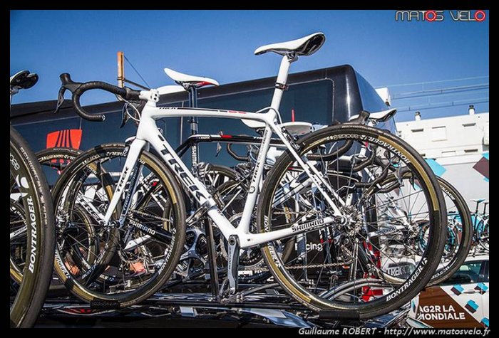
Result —
M 10 129 L 10 200 L 12 249 L 24 255 L 23 278 L 10 307 L 11 327 L 32 327 L 43 306 L 54 254 L 54 218 L 50 191 L 36 157 L 21 135 Z M 13 209 L 14 206 L 14 209 Z M 25 227 L 25 228 L 24 228 Z M 24 230 L 23 230 L 24 228 Z M 14 230 L 14 231 L 13 231 Z M 24 250 L 22 246 L 26 245 Z M 12 267 L 11 267 L 11 273 Z

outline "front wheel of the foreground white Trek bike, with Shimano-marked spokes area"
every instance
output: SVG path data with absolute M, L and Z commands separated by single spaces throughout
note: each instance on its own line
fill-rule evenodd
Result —
M 175 176 L 149 152 L 142 152 L 134 171 L 138 184 L 131 196 L 123 225 L 120 201 L 108 226 L 103 214 L 123 170 L 128 147 L 102 144 L 81 154 L 63 171 L 53 189 L 56 207 L 56 273 L 77 297 L 101 301 L 108 307 L 127 307 L 152 295 L 168 280 L 185 241 L 185 205 Z M 130 186 L 125 186 L 128 191 Z M 153 198 L 151 198 L 153 196 Z M 124 196 L 123 196 L 124 198 Z M 91 217 L 91 241 L 75 234 L 87 233 L 78 207 Z M 168 210 L 168 212 L 167 212 Z M 85 236 L 84 238 L 88 238 Z M 88 243 L 98 243 L 98 255 L 88 253 Z

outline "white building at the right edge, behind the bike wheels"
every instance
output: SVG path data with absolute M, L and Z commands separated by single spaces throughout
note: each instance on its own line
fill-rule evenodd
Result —
M 470 199 L 488 199 L 488 112 L 398 122 L 398 135 L 428 159 L 433 171 L 461 192 L 473 211 Z

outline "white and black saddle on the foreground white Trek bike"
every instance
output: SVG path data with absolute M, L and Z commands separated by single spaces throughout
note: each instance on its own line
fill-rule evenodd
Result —
M 295 53 L 297 56 L 309 56 L 319 51 L 319 48 L 324 44 L 324 41 L 326 41 L 324 33 L 313 33 L 297 40 L 271 43 L 258 47 L 254 51 L 254 55 L 259 56 L 267 52 L 274 52 L 282 56 L 289 53 Z

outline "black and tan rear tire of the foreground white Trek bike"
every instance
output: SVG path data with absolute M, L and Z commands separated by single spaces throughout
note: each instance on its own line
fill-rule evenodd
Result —
M 277 251 L 272 243 L 265 245 L 262 248 L 262 253 L 269 270 L 271 270 L 272 275 L 274 275 L 274 279 L 279 282 L 289 295 L 298 302 L 309 307 L 309 309 L 316 312 L 329 311 L 338 318 L 367 319 L 384 315 L 406 304 L 406 302 L 415 297 L 431 279 L 438 266 L 445 244 L 446 218 L 444 218 L 441 213 L 445 204 L 443 204 L 441 189 L 438 189 L 438 182 L 436 181 L 433 172 L 428 167 L 428 164 L 426 164 L 416 150 L 410 147 L 402 139 L 395 137 L 389 132 L 361 125 L 344 124 L 331 126 L 308 134 L 306 137 L 300 139 L 299 142 L 297 142 L 299 147 L 297 152 L 300 156 L 304 156 L 309 149 L 312 149 L 319 144 L 339 139 L 346 142 L 345 144 L 350 140 L 356 140 L 359 144 L 367 141 L 374 142 L 377 145 L 385 144 L 389 149 L 394 149 L 393 152 L 400 154 L 400 157 L 403 158 L 403 162 L 405 162 L 408 167 L 416 170 L 418 177 L 420 177 L 420 181 L 422 179 L 421 185 L 424 185 L 425 196 L 427 196 L 428 201 L 430 202 L 428 204 L 428 213 L 432 225 L 432 233 L 430 241 L 428 241 L 428 248 L 425 251 L 425 257 L 421 258 L 418 267 L 414 270 L 415 272 L 411 273 L 411 277 L 407 278 L 406 282 L 398 287 L 396 293 L 390 292 L 389 295 L 384 295 L 372 302 L 359 302 L 354 305 L 344 305 L 339 304 L 338 302 L 326 301 L 302 287 L 302 285 L 294 280 L 294 277 L 288 273 L 282 260 L 277 257 Z M 294 158 L 291 156 L 289 150 L 284 152 L 284 154 L 279 157 L 276 164 L 274 164 L 267 179 L 264 181 L 261 194 L 259 195 L 261 196 L 261 199 L 259 199 L 257 210 L 257 223 L 260 232 L 269 231 L 269 223 L 271 223 L 269 219 L 272 219 L 271 213 L 274 194 L 277 191 L 282 176 L 287 169 L 292 166 L 293 162 Z M 426 258 L 426 260 L 424 258 Z

